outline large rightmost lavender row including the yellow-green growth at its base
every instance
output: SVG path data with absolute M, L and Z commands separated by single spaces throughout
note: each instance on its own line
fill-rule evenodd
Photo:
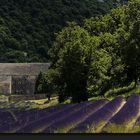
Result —
M 129 132 L 140 117 L 140 95 L 129 97 L 124 107 L 108 122 L 104 131 L 115 133 Z

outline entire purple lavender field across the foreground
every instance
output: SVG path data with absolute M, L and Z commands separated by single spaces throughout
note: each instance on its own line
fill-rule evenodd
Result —
M 0 133 L 139 133 L 140 95 L 45 109 L 0 109 Z

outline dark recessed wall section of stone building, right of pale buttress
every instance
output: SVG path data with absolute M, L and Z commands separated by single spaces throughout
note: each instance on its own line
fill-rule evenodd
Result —
M 12 93 L 22 95 L 33 95 L 35 88 L 35 78 L 31 76 L 13 76 Z

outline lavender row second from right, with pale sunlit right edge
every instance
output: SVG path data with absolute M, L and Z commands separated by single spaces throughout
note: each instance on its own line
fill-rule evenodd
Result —
M 119 96 L 115 98 L 100 110 L 89 116 L 85 121 L 68 131 L 68 133 L 99 132 L 124 104 L 125 99 L 123 97 Z

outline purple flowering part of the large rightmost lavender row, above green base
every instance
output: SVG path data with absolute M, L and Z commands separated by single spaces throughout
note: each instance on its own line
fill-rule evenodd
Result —
M 134 94 L 129 97 L 124 107 L 108 122 L 104 129 L 110 124 L 122 125 L 124 127 L 133 127 L 140 117 L 140 95 Z M 137 122 L 138 123 L 138 122 Z

